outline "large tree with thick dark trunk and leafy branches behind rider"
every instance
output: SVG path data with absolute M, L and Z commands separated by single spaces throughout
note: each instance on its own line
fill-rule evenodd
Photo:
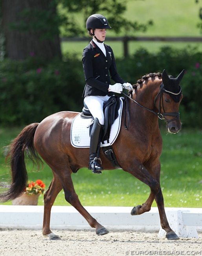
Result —
M 63 36 L 86 32 L 85 26 L 81 27 L 75 21 L 75 13 L 82 14 L 84 20 L 93 13 L 104 13 L 116 33 L 124 30 L 127 35 L 130 30 L 145 31 L 152 21 L 140 24 L 125 19 L 126 1 L 0 0 L 6 57 L 26 59 L 31 54 L 44 60 L 61 59 L 59 28 L 62 28 Z M 0 45 L 4 41 L 1 37 L 0 33 Z

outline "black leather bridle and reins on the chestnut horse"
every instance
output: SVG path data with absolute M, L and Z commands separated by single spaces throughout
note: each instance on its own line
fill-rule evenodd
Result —
M 172 122 L 174 120 L 177 120 L 180 118 L 180 112 L 169 112 L 166 113 L 164 106 L 163 106 L 163 92 L 166 93 L 171 93 L 173 95 L 179 95 L 182 92 L 182 88 L 180 87 L 180 91 L 178 93 L 173 93 L 171 91 L 167 91 L 164 88 L 164 84 L 162 82 L 162 84 L 160 85 L 160 91 L 158 92 L 158 94 L 156 95 L 156 98 L 154 100 L 154 106 L 156 104 L 156 100 L 158 98 L 158 96 L 160 96 L 160 101 L 159 101 L 159 107 L 158 107 L 158 113 L 156 113 L 154 110 L 146 108 L 145 106 L 141 105 L 140 103 L 138 103 L 136 100 L 132 99 L 131 97 L 129 97 L 126 93 L 123 93 L 123 95 L 125 95 L 127 98 L 129 98 L 130 100 L 132 100 L 133 102 L 135 102 L 138 106 L 140 106 L 141 108 L 147 109 L 148 111 L 150 111 L 151 113 L 153 113 L 154 115 L 157 115 L 159 119 L 161 120 L 165 120 L 166 124 L 169 124 L 169 122 Z M 128 107 L 128 102 L 127 102 L 127 98 L 125 98 L 125 108 L 124 108 L 124 125 L 125 125 L 125 129 L 128 129 L 129 127 L 129 122 L 130 122 L 130 116 L 129 116 L 129 107 Z M 126 110 L 127 109 L 127 110 Z M 161 112 L 161 109 L 163 109 L 163 113 Z M 127 113 L 126 113 L 127 112 Z M 128 115 L 128 124 L 126 125 L 126 115 Z M 169 117 L 173 117 L 173 119 L 171 120 L 167 120 L 165 116 L 169 116 Z

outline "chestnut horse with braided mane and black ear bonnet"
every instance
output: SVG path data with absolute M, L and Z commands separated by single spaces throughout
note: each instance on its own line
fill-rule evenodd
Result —
M 150 73 L 138 80 L 133 89 L 125 94 L 130 124 L 125 128 L 122 112 L 120 132 L 112 145 L 121 169 L 150 187 L 150 195 L 145 203 L 134 206 L 131 215 L 140 215 L 151 210 L 155 200 L 161 226 L 169 240 L 179 237 L 167 221 L 160 187 L 159 158 L 162 153 L 162 137 L 158 119 L 165 121 L 169 133 L 176 134 L 181 130 L 178 109 L 183 97 L 180 86 L 183 76 L 184 70 L 174 78 L 168 76 L 164 69 L 162 73 Z M 29 124 L 9 145 L 7 157 L 10 160 L 12 182 L 0 195 L 0 201 L 12 200 L 23 193 L 28 180 L 25 164 L 27 156 L 38 165 L 44 160 L 53 172 L 53 180 L 44 193 L 42 234 L 49 239 L 60 239 L 50 230 L 50 216 L 51 207 L 62 189 L 66 201 L 95 228 L 97 235 L 109 232 L 85 210 L 73 186 L 72 174 L 82 167 L 88 167 L 89 156 L 89 148 L 76 148 L 70 143 L 71 124 L 78 114 L 61 111 L 46 117 L 40 123 Z M 103 152 L 100 152 L 100 157 L 105 170 L 115 169 Z

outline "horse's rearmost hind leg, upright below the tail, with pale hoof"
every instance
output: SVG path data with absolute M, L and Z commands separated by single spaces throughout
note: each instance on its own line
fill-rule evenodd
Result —
M 59 236 L 55 235 L 50 230 L 50 215 L 51 207 L 55 202 L 55 198 L 58 193 L 62 190 L 62 184 L 57 176 L 54 175 L 53 180 L 44 194 L 44 221 L 43 221 L 43 230 L 42 234 L 48 236 L 51 240 L 60 239 Z

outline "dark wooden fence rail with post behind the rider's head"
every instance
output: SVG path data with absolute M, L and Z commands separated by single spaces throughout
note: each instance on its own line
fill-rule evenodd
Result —
M 129 56 L 128 43 L 130 41 L 161 41 L 161 42 L 202 42 L 202 37 L 107 37 L 108 41 L 123 42 L 124 56 Z M 76 42 L 90 41 L 89 37 L 62 37 L 61 41 Z

